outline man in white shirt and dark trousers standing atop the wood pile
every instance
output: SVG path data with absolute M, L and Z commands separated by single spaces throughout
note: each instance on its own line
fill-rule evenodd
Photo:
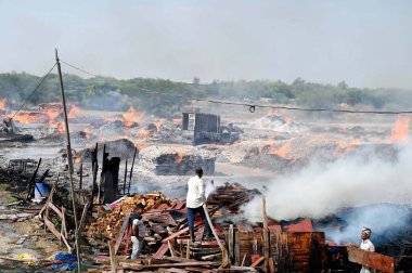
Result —
M 207 222 L 205 210 L 203 209 L 203 204 L 206 203 L 205 196 L 205 184 L 202 180 L 203 169 L 196 169 L 196 174 L 191 178 L 188 182 L 188 196 L 186 196 L 186 207 L 188 207 L 188 224 L 191 242 L 194 243 L 194 220 L 196 214 L 201 213 L 203 221 L 205 222 L 205 238 L 210 239 L 211 231 Z

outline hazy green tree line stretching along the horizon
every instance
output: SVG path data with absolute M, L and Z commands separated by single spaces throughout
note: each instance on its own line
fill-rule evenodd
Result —
M 20 105 L 30 95 L 40 77 L 26 73 L 0 74 L 0 99 Z M 126 110 L 134 106 L 153 115 L 172 116 L 191 103 L 191 98 L 256 104 L 293 104 L 313 108 L 370 107 L 408 109 L 412 92 L 401 89 L 352 88 L 345 81 L 337 84 L 307 82 L 297 78 L 292 83 L 278 80 L 176 82 L 167 79 L 134 78 L 120 80 L 107 77 L 81 78 L 64 75 L 67 101 L 80 107 Z M 154 91 L 154 92 L 152 92 Z M 28 100 L 29 105 L 57 102 L 59 78 L 51 74 Z M 171 115 L 172 114 L 172 115 Z

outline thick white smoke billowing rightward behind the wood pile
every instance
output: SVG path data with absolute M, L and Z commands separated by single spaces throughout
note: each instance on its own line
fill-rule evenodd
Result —
M 366 156 L 368 155 L 368 156 Z M 319 219 L 345 207 L 371 204 L 409 204 L 412 197 L 412 145 L 402 147 L 397 160 L 371 153 L 311 162 L 295 174 L 268 183 L 268 216 L 278 220 Z M 261 199 L 244 208 L 247 219 L 261 221 Z

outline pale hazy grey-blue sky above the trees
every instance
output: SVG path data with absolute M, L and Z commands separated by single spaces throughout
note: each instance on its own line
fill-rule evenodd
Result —
M 0 73 L 412 88 L 410 0 L 0 0 Z M 64 67 L 66 73 L 75 73 Z

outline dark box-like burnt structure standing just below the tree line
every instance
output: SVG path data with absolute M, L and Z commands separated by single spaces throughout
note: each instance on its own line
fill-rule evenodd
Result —
M 233 143 L 240 135 L 232 125 L 221 126 L 220 116 L 202 113 L 183 113 L 182 130 L 193 131 L 193 145 Z

